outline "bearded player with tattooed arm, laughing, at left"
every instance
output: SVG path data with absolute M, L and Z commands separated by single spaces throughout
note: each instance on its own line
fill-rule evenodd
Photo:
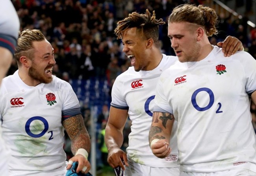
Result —
M 0 90 L 2 136 L 11 149 L 9 175 L 65 176 L 75 161 L 76 172 L 87 173 L 89 134 L 71 85 L 52 75 L 52 45 L 41 31 L 27 29 L 17 40 L 15 58 L 19 69 L 2 80 Z M 64 129 L 74 154 L 69 163 Z

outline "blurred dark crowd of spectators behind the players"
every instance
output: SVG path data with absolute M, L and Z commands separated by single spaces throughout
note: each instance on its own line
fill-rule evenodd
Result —
M 20 18 L 20 31 L 40 29 L 54 48 L 53 73 L 59 78 L 70 80 L 107 80 L 109 95 L 115 78 L 130 67 L 130 60 L 122 53 L 122 42 L 116 39 L 114 29 L 117 21 L 137 11 L 146 9 L 156 12 L 157 18 L 167 22 L 172 9 L 185 2 L 203 4 L 204 0 L 12 0 Z M 213 45 L 223 41 L 227 35 L 237 37 L 245 51 L 256 58 L 256 28 L 247 25 L 248 18 L 239 19 L 232 15 L 219 14 L 219 34 L 212 36 Z M 167 37 L 167 24 L 160 29 L 161 51 L 174 55 Z M 8 74 L 17 70 L 13 60 Z M 102 106 L 97 114 L 98 133 L 108 120 L 109 104 Z M 90 129 L 90 107 L 83 107 L 83 117 Z M 256 129 L 256 106 L 252 105 L 253 124 Z M 130 123 L 125 128 L 123 149 L 127 147 Z M 98 140 L 99 150 L 102 140 Z M 67 154 L 71 155 L 69 141 L 65 143 Z M 103 156 L 103 155 L 102 155 Z M 69 156 L 68 156 L 69 157 Z M 104 155 L 106 157 L 106 155 Z M 103 164 L 106 164 L 102 162 Z

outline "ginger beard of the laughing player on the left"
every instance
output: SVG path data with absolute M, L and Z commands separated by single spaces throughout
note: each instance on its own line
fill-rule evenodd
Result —
M 46 68 L 51 68 L 52 69 L 52 65 L 48 65 Z M 28 69 L 28 75 L 33 78 L 34 80 L 39 81 L 40 83 L 50 83 L 52 82 L 52 71 L 50 71 L 50 76 L 46 76 L 45 71 L 47 69 L 44 70 L 43 74 L 40 74 L 39 71 L 37 71 L 36 66 L 34 64 L 34 62 L 32 62 L 32 66 Z

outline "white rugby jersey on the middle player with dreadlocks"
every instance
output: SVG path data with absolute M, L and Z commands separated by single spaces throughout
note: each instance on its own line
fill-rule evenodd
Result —
M 136 163 L 151 167 L 178 167 L 175 129 L 171 137 L 172 152 L 166 158 L 160 159 L 154 156 L 148 143 L 156 83 L 162 71 L 169 68 L 176 60 L 175 56 L 163 54 L 160 64 L 152 71 L 136 72 L 134 67 L 129 67 L 116 78 L 113 85 L 111 106 L 128 109 L 132 121 L 129 146 L 126 151 Z

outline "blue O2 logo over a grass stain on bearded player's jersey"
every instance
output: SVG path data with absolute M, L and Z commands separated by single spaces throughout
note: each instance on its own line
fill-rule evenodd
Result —
M 35 129 L 39 129 L 41 131 L 39 134 L 34 134 L 32 131 L 35 131 L 35 130 L 32 130 L 32 131 L 30 130 L 31 123 L 35 120 L 39 120 L 39 121 L 43 122 L 43 124 L 44 124 L 43 130 L 41 129 L 41 125 L 40 125 L 40 127 L 39 127 L 39 125 L 38 125 L 38 127 L 36 125 L 33 125 L 33 126 L 35 126 L 34 127 Z M 34 117 L 28 119 L 28 121 L 26 122 L 26 125 L 25 125 L 26 133 L 32 138 L 42 137 L 43 135 L 45 135 L 45 133 L 48 131 L 48 129 L 49 129 L 49 124 L 48 124 L 47 120 L 41 116 L 34 116 Z M 49 140 L 52 140 L 53 132 L 49 131 L 48 133 L 51 133 Z

